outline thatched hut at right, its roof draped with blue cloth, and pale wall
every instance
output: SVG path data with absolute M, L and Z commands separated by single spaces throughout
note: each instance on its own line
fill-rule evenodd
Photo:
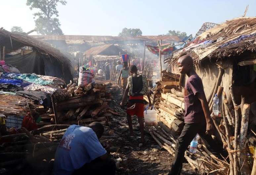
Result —
M 197 73 L 202 78 L 206 97 L 211 96 L 216 84 L 219 67 L 224 69 L 222 81 L 229 99 L 230 85 L 233 85 L 237 103 L 241 95 L 246 103 L 256 101 L 256 17 L 240 17 L 226 21 L 207 30 L 184 48 L 174 51 L 165 60 L 172 72 L 177 72 L 180 56 L 192 56 Z

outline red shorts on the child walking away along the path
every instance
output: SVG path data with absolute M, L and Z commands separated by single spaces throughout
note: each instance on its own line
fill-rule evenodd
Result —
M 130 100 L 143 100 L 143 95 L 141 96 L 130 96 Z M 132 103 L 128 103 L 127 107 L 130 108 Z M 134 109 L 127 109 L 126 113 L 130 116 L 137 115 L 137 117 L 144 117 L 144 104 L 143 103 L 135 103 Z

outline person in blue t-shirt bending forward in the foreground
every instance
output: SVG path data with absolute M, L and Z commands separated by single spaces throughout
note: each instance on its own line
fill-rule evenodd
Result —
M 103 132 L 99 122 L 69 126 L 55 153 L 54 174 L 115 174 L 115 162 L 99 141 Z

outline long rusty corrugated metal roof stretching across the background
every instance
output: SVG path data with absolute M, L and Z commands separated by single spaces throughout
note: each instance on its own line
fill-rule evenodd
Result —
M 113 36 L 87 36 L 87 35 L 30 35 L 42 40 L 84 40 L 84 41 L 112 41 L 112 40 L 174 40 L 180 41 L 177 36 L 138 36 L 138 37 L 113 37 Z

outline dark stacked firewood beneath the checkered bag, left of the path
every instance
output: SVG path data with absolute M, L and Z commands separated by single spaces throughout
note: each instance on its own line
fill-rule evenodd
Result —
M 106 82 L 105 84 L 91 83 L 85 87 L 76 85 L 76 83 L 68 84 L 65 89 L 65 100 L 56 104 L 59 112 L 58 122 L 87 120 L 90 117 L 94 119 L 99 117 L 103 121 L 100 116 L 105 114 L 109 116 L 107 102 L 112 101 L 112 93 L 118 90 L 115 84 Z

